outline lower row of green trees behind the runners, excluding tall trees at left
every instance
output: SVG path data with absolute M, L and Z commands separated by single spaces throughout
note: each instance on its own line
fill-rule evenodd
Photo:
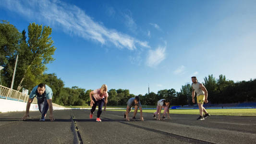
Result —
M 63 81 L 58 79 L 56 74 L 44 75 L 46 79 L 43 83 L 52 88 L 53 102 L 63 106 L 90 104 L 91 89 L 85 90 L 77 86 L 64 87 Z M 256 79 L 234 83 L 232 80 L 226 80 L 225 75 L 220 74 L 216 79 L 211 74 L 204 78 L 203 84 L 207 88 L 208 101 L 211 104 L 256 102 Z M 135 96 L 130 94 L 128 89 L 110 89 L 108 94 L 110 106 L 126 105 L 128 99 Z M 142 105 L 157 105 L 157 101 L 162 98 L 171 100 L 171 105 L 193 105 L 191 84 L 182 85 L 180 92 L 171 88 L 159 90 L 157 94 L 151 92 L 138 96 L 140 96 Z

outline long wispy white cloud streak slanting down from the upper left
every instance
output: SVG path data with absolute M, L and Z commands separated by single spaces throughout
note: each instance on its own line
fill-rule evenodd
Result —
M 68 34 L 81 36 L 99 42 L 102 45 L 114 44 L 118 48 L 130 50 L 137 47 L 150 48 L 147 42 L 109 29 L 94 21 L 79 7 L 59 0 L 0 0 L 0 7 L 17 12 L 31 20 L 37 19 L 56 27 Z

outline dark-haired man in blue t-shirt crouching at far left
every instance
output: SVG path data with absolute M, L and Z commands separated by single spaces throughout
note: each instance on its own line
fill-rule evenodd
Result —
M 45 116 L 48 111 L 50 111 L 49 118 L 51 121 L 54 121 L 53 117 L 53 108 L 52 108 L 52 90 L 51 88 L 46 84 L 38 84 L 35 86 L 27 100 L 27 106 L 26 106 L 26 113 L 22 120 L 26 120 L 29 117 L 29 108 L 30 104 L 32 103 L 34 97 L 37 96 L 37 105 L 40 113 L 42 114 L 40 121 L 45 121 Z

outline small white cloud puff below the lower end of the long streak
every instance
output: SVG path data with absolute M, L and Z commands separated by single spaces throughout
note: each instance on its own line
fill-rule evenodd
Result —
M 165 59 L 165 47 L 158 47 L 156 50 L 149 50 L 146 65 L 149 67 L 157 66 L 161 61 Z

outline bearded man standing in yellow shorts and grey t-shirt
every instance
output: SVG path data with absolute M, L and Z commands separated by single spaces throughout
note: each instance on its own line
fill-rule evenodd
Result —
M 207 100 L 207 90 L 203 84 L 197 82 L 195 76 L 191 77 L 192 79 L 192 101 L 195 103 L 195 92 L 196 92 L 196 100 L 199 108 L 200 116 L 196 120 L 205 120 L 205 118 L 209 117 L 210 114 L 207 113 L 206 109 L 203 107 L 204 102 L 208 103 Z M 205 115 L 203 116 L 203 112 Z

